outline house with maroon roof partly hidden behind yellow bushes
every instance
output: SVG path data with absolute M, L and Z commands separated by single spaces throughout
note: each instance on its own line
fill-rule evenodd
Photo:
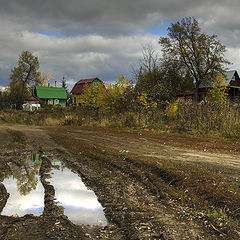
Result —
M 78 105 L 80 103 L 80 96 L 84 91 L 85 85 L 90 86 L 99 83 L 102 83 L 102 81 L 97 77 L 79 80 L 71 90 L 73 104 Z

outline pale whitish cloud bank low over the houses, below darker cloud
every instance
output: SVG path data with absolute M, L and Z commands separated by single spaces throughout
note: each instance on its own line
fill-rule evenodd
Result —
M 131 74 L 131 66 L 141 56 L 141 44 L 149 42 L 158 48 L 158 37 L 152 35 L 103 37 L 99 35 L 74 38 L 55 38 L 23 32 L 6 43 L 0 35 L 0 85 L 8 83 L 10 69 L 16 66 L 18 55 L 29 50 L 39 57 L 41 70 L 53 72 L 55 79 L 66 80 L 99 77 L 103 81 L 117 79 L 120 74 Z M 1 48 L 1 43 L 7 47 Z M 7 77 L 7 79 L 6 79 Z M 71 86 L 69 86 L 71 87 Z

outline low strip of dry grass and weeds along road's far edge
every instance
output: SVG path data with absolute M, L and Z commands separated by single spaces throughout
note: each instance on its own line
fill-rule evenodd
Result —
M 180 102 L 172 114 L 161 108 L 150 112 L 132 110 L 105 114 L 81 107 L 46 108 L 33 113 L 1 110 L 0 123 L 130 128 L 240 138 L 240 108 L 216 108 L 205 102 Z

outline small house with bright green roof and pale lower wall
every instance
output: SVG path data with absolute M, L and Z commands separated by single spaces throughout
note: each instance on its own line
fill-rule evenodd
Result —
M 36 86 L 34 97 L 39 98 L 48 105 L 66 106 L 67 91 L 63 87 L 41 87 Z

